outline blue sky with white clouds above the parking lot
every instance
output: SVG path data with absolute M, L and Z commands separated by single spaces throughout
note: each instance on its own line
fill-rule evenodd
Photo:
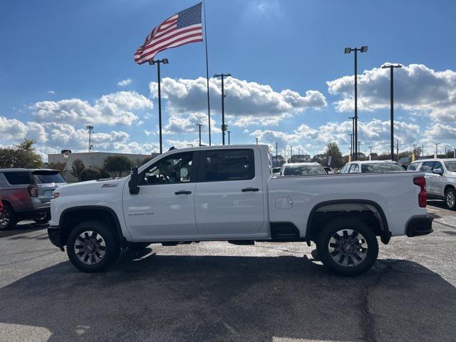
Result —
M 196 2 L 3 1 L 0 145 L 28 137 L 43 155 L 85 150 L 90 123 L 95 150 L 157 150 L 156 69 L 135 64 L 133 53 L 153 26 Z M 233 76 L 232 142 L 258 137 L 315 154 L 336 141 L 348 152 L 353 54 L 343 48 L 367 45 L 358 58 L 361 150 L 388 149 L 385 62 L 405 66 L 395 74 L 400 150 L 456 145 L 454 1 L 207 0 L 206 9 L 209 75 Z M 196 123 L 207 125 L 204 43 L 157 56 L 170 60 L 162 68 L 165 147 L 195 143 Z M 211 87 L 219 144 L 219 81 Z

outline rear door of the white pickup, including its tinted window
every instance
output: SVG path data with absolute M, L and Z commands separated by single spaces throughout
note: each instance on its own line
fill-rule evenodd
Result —
M 195 214 L 199 233 L 222 237 L 258 232 L 264 224 L 259 150 L 202 151 L 198 165 Z

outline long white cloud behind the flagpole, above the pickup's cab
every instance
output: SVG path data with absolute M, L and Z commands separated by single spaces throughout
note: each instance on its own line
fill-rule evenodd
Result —
M 212 113 L 220 112 L 221 81 L 209 80 Z M 275 91 L 271 86 L 257 82 L 226 78 L 224 81 L 225 114 L 233 125 L 276 125 L 283 118 L 305 110 L 326 107 L 326 99 L 316 90 L 301 95 L 294 90 Z M 150 93 L 157 98 L 157 83 L 150 83 Z M 182 116 L 189 113 L 207 113 L 207 83 L 205 78 L 162 79 L 162 98 L 166 99 L 169 113 Z

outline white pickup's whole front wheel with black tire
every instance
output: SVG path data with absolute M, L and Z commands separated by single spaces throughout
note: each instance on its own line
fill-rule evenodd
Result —
M 83 234 L 85 232 L 95 234 Z M 104 246 L 101 246 L 100 239 Z M 80 252 L 76 253 L 76 249 Z M 99 272 L 108 269 L 118 259 L 120 244 L 115 237 L 114 227 L 108 227 L 104 222 L 89 220 L 81 222 L 71 230 L 66 242 L 66 252 L 71 264 L 77 269 L 88 273 Z M 100 257 L 103 252 L 103 257 Z

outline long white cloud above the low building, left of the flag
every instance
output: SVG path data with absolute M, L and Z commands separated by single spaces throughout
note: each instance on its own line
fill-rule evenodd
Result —
M 103 95 L 93 105 L 86 100 L 71 98 L 60 101 L 42 101 L 32 105 L 38 122 L 63 122 L 78 125 L 132 125 L 138 120 L 133 110 L 151 110 L 152 101 L 131 91 Z

